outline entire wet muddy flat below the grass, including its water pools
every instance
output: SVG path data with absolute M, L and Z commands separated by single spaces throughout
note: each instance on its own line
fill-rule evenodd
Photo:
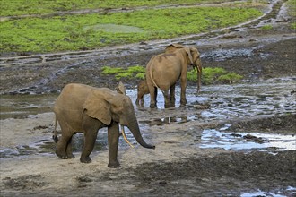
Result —
M 1 62 L 0 195 L 295 196 L 296 35 L 282 5 L 277 2 L 274 13 L 249 26 L 218 34 L 128 45 L 126 50 L 110 47 L 102 56 Z M 273 29 L 262 30 L 264 24 Z M 177 99 L 176 107 L 164 109 L 159 95 L 158 108 L 150 109 L 145 97 L 135 113 L 144 139 L 156 150 L 140 147 L 127 131 L 135 149 L 120 139 L 119 169 L 107 167 L 106 129 L 99 133 L 91 164 L 79 161 L 81 134 L 74 136 L 76 158 L 57 158 L 51 110 L 58 91 L 68 82 L 114 89 L 118 81 L 100 74 L 103 65 L 144 66 L 172 41 L 198 47 L 204 67 L 223 67 L 242 74 L 244 81 L 204 86 L 200 95 L 196 84 L 188 84 L 186 107 L 179 107 Z M 124 83 L 135 101 L 137 81 Z M 290 141 L 292 148 L 206 147 L 221 141 L 209 135 L 214 131 L 231 139 L 226 141 L 231 145 L 263 145 L 277 141 L 270 136 L 281 136 L 278 141 Z

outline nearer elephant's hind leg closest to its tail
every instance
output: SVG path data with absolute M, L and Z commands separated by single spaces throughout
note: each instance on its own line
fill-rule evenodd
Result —
M 59 158 L 66 159 L 68 158 L 68 155 L 66 153 L 67 147 L 69 141 L 71 141 L 72 139 L 73 132 L 70 131 L 70 128 L 65 123 L 60 124 L 60 126 L 62 129 L 62 136 L 57 141 L 56 154 Z

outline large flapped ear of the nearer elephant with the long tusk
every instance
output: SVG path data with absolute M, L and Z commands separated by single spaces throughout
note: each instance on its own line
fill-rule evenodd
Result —
M 109 102 L 104 99 L 99 90 L 91 90 L 83 104 L 83 109 L 86 110 L 88 116 L 100 120 L 103 124 L 109 125 L 111 123 Z

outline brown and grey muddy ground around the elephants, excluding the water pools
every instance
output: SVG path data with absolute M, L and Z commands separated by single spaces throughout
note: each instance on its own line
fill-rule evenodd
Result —
M 292 77 L 296 73 L 296 35 L 289 21 L 272 22 L 272 30 L 252 27 L 232 30 L 221 35 L 178 39 L 179 43 L 198 47 L 204 67 L 223 67 L 244 76 L 245 81 L 266 81 Z M 103 65 L 145 65 L 165 44 L 135 44 L 144 50 L 116 52 L 111 55 L 46 61 L 45 63 L 2 64 L 0 92 L 4 96 L 56 93 L 68 82 L 82 82 L 114 89 L 118 81 L 100 74 Z M 162 46 L 163 45 L 163 46 Z M 155 47 L 153 47 L 155 46 Z M 133 45 L 128 46 L 129 49 Z M 117 55 L 119 54 L 119 55 Z M 137 81 L 124 80 L 128 89 Z M 194 84 L 189 84 L 194 85 Z M 295 95 L 296 83 L 289 97 Z M 264 93 L 264 92 L 263 92 Z M 7 97 L 8 97 L 7 96 Z M 203 96 L 203 92 L 201 93 Z M 288 97 L 287 96 L 287 97 Z M 148 104 L 146 104 L 148 105 Z M 177 104 L 178 105 L 178 104 Z M 193 106 L 193 103 L 188 103 Z M 49 104 L 52 107 L 52 103 Z M 43 139 L 49 141 L 54 115 L 51 108 L 27 116 L 1 120 L 1 148 L 30 147 Z M 203 107 L 170 109 L 136 108 L 144 139 L 156 145 L 145 150 L 120 143 L 118 159 L 121 168 L 107 167 L 108 150 L 94 150 L 92 163 L 79 162 L 81 150 L 74 159 L 63 160 L 54 154 L 54 144 L 47 151 L 1 156 L 1 196 L 283 196 L 296 195 L 295 150 L 237 151 L 200 148 L 205 129 L 219 129 L 231 124 L 232 133 L 291 134 L 296 132 L 295 108 L 292 112 L 267 116 L 235 117 L 203 121 L 155 121 L 158 117 L 188 116 L 202 113 Z M 195 111 L 196 110 L 196 111 Z M 14 118 L 12 118 L 14 117 Z M 152 121 L 154 120 L 154 121 Z M 106 137 L 100 135 L 99 137 Z M 79 140 L 79 139 L 78 139 Z M 40 148 L 40 146 L 39 146 Z M 38 148 L 38 149 L 39 149 Z M 2 153 L 3 153 L 2 152 Z M 3 154 L 4 155 L 4 154 Z M 257 193 L 257 194 L 256 194 Z

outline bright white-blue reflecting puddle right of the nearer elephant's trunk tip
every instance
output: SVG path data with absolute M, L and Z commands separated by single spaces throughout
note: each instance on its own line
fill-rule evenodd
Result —
M 227 124 L 219 131 L 205 129 L 202 133 L 199 147 L 202 149 L 258 150 L 270 152 L 296 150 L 295 135 L 224 132 L 230 126 L 230 124 Z

